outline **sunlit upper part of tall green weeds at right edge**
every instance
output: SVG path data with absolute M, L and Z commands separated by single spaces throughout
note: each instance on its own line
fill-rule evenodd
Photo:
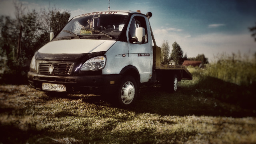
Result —
M 256 61 L 238 54 L 220 54 L 216 62 L 206 64 L 204 70 L 197 70 L 203 76 L 218 78 L 225 82 L 249 86 L 256 84 Z

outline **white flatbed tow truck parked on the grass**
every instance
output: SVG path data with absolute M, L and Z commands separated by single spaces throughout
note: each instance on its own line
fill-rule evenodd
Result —
M 115 10 L 72 18 L 35 52 L 28 72 L 30 85 L 48 93 L 111 93 L 124 107 L 136 102 L 143 84 L 160 82 L 176 91 L 178 81 L 192 76 L 184 67 L 160 64 L 151 16 L 151 12 Z

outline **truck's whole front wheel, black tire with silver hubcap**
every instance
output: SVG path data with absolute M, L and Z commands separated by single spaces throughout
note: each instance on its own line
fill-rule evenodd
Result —
M 128 108 L 132 106 L 138 97 L 138 84 L 132 76 L 125 76 L 116 94 L 119 106 Z

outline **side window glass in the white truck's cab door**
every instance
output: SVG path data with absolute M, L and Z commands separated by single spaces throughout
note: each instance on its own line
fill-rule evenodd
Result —
M 145 28 L 145 42 L 143 43 L 147 43 L 148 42 L 148 29 L 147 29 L 147 25 L 146 25 L 146 20 L 144 17 L 142 16 L 134 16 L 134 18 L 132 18 L 132 22 L 129 28 L 129 41 L 130 43 L 136 43 L 136 39 L 135 39 L 135 30 L 136 28 Z

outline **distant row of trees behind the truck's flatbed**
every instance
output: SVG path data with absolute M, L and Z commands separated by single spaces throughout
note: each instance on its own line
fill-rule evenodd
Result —
M 161 64 L 172 64 L 180 66 L 185 60 L 202 61 L 202 64 L 208 64 L 208 58 L 204 54 L 198 54 L 196 57 L 188 58 L 187 53 L 183 55 L 183 50 L 177 42 L 172 44 L 172 51 L 167 40 L 164 40 L 161 47 Z

